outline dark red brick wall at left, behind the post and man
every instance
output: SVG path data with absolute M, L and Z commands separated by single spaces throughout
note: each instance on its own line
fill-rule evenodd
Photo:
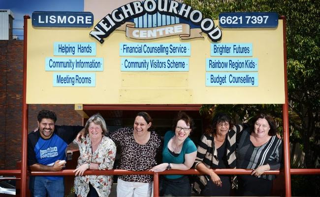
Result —
M 23 40 L 0 40 L 0 169 L 16 169 L 21 160 Z M 82 125 L 74 105 L 28 106 L 28 131 L 37 127 L 41 109 L 56 112 L 57 125 Z

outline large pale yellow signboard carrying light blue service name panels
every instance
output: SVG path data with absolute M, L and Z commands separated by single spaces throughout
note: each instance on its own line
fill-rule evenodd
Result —
M 89 34 L 94 28 L 32 27 L 29 20 L 27 103 L 285 102 L 282 20 L 276 28 L 221 28 L 218 43 L 205 33 L 181 39 L 188 27 L 180 24 L 131 29 L 131 36 L 114 31 L 101 44 Z M 154 39 L 157 33 L 172 36 Z

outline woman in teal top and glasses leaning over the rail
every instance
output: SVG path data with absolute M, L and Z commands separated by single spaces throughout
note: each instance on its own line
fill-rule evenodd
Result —
M 196 146 L 188 137 L 194 126 L 193 120 L 185 112 L 179 112 L 173 122 L 173 130 L 164 135 L 162 164 L 154 166 L 151 171 L 161 172 L 165 169 L 188 170 L 196 157 Z M 188 176 L 164 175 L 160 179 L 160 196 L 191 196 Z

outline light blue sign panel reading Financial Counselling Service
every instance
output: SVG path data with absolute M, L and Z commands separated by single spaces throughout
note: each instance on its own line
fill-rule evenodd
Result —
M 120 43 L 120 56 L 190 56 L 190 43 Z

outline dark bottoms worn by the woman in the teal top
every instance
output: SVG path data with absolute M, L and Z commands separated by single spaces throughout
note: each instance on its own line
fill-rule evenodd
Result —
M 161 197 L 190 197 L 191 184 L 188 176 L 177 179 L 160 178 L 160 196 Z

